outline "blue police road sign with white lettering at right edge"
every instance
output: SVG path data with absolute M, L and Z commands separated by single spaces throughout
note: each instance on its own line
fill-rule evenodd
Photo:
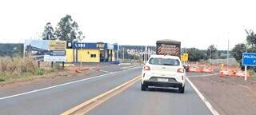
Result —
M 242 65 L 256 66 L 256 53 L 243 53 Z

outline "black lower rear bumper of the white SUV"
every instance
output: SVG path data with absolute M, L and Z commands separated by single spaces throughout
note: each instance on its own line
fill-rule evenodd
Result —
M 180 82 L 162 82 L 162 81 L 143 81 L 143 85 L 147 86 L 158 86 L 158 87 L 182 87 L 183 84 Z

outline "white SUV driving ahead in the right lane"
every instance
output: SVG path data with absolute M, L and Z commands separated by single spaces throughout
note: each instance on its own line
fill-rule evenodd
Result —
M 186 72 L 177 56 L 152 55 L 142 69 L 142 90 L 174 87 L 184 93 Z

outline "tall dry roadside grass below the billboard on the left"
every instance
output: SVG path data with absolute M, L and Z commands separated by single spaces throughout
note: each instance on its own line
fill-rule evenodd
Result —
M 45 74 L 57 72 L 58 64 L 53 68 L 43 66 L 38 68 L 32 57 L 0 57 L 0 83 L 18 80 L 30 80 Z

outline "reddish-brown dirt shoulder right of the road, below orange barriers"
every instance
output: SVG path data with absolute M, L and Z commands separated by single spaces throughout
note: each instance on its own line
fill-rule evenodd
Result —
M 256 81 L 250 77 L 189 77 L 221 115 L 254 115 Z

